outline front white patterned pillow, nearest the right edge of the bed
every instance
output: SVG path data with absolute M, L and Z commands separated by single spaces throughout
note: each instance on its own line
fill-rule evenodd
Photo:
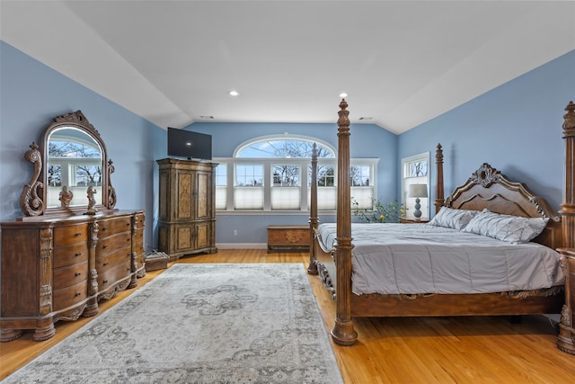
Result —
M 482 210 L 464 228 L 464 232 L 494 237 L 512 244 L 523 244 L 537 237 L 547 225 L 547 218 L 522 218 Z

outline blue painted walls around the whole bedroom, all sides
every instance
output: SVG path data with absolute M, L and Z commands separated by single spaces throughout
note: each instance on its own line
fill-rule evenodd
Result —
M 166 156 L 165 130 L 3 41 L 0 57 L 0 219 L 22 215 L 20 192 L 32 173 L 23 153 L 31 141 L 39 141 L 42 129 L 54 116 L 82 110 L 100 131 L 114 161 L 116 207 L 146 210 L 146 244 L 157 244 L 155 160 Z M 564 106 L 575 100 L 573 67 L 575 51 L 400 136 L 375 125 L 352 124 L 351 156 L 380 157 L 377 188 L 383 201 L 399 196 L 401 159 L 426 151 L 433 155 L 441 143 L 446 194 L 488 162 L 510 178 L 527 183 L 558 210 L 562 201 L 562 115 Z M 222 157 L 232 156 L 234 148 L 247 139 L 286 131 L 321 138 L 335 146 L 338 102 L 334 102 L 333 124 L 194 123 L 188 129 L 212 134 L 214 156 Z M 353 117 L 353 101 L 349 103 Z M 434 177 L 432 174 L 431 179 Z M 323 222 L 332 219 L 321 218 Z M 217 217 L 217 243 L 264 244 L 267 225 L 306 222 L 305 214 L 221 215 Z M 240 236 L 232 237 L 233 228 L 242 228 Z

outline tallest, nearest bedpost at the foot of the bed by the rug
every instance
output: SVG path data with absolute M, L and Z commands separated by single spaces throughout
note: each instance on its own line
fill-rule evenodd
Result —
M 348 103 L 341 99 L 338 119 L 338 206 L 337 245 L 335 263 L 337 283 L 335 286 L 335 325 L 333 341 L 351 345 L 358 340 L 351 320 L 351 189 L 349 185 L 349 111 Z

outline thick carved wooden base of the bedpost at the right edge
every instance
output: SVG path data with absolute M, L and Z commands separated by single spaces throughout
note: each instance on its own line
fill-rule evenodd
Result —
M 559 249 L 562 270 L 565 272 L 565 305 L 561 311 L 557 347 L 566 353 L 575 354 L 575 248 Z

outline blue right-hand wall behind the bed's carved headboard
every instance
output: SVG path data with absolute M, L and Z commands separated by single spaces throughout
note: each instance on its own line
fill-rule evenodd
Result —
M 431 199 L 435 199 L 435 147 L 441 143 L 446 196 L 482 163 L 489 163 L 511 180 L 526 183 L 559 210 L 562 116 L 565 106 L 575 101 L 573 68 L 575 50 L 403 133 L 398 156 L 432 151 Z

